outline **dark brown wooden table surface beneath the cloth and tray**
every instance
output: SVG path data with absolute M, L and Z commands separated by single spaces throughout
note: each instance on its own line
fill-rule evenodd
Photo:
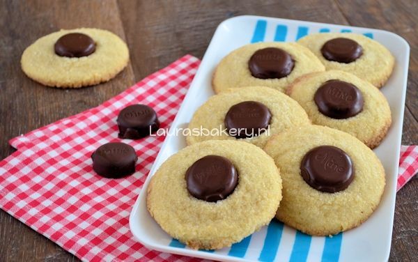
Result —
M 418 144 L 418 1 L 7 1 L 0 0 L 0 159 L 8 139 L 95 107 L 184 54 L 203 56 L 217 24 L 264 15 L 393 31 L 411 47 L 403 144 Z M 130 49 L 121 74 L 98 86 L 47 88 L 25 77 L 23 50 L 59 29 L 113 31 Z M 396 199 L 390 261 L 418 261 L 418 178 Z M 54 242 L 0 210 L 0 261 L 78 261 Z

